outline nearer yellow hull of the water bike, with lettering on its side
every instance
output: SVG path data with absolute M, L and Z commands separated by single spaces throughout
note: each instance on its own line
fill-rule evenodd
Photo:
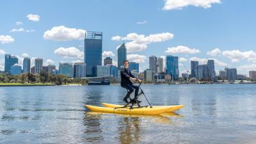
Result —
M 119 113 L 119 114 L 129 114 L 129 115 L 159 115 L 166 111 L 170 111 L 170 108 L 105 108 L 100 106 L 90 106 L 85 105 L 86 108 L 90 109 L 91 111 L 95 112 L 102 112 L 102 113 Z

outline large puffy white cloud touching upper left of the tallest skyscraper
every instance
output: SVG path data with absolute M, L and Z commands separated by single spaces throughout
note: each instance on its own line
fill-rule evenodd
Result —
M 44 38 L 55 41 L 83 40 L 85 33 L 83 29 L 54 26 L 51 30 L 44 32 Z

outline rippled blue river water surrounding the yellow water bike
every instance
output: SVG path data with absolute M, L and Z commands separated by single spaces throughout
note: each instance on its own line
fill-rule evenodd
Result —
M 84 104 L 123 104 L 126 90 L 0 87 L 0 143 L 256 143 L 256 84 L 141 87 L 154 106 L 186 106 L 157 116 L 92 113 Z

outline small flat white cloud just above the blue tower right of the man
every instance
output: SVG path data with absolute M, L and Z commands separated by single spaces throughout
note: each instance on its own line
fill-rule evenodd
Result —
M 185 47 L 182 45 L 179 45 L 177 47 L 168 47 L 166 51 L 164 51 L 166 53 L 170 53 L 170 54 L 177 54 L 177 53 L 182 53 L 182 54 L 195 54 L 200 52 L 198 49 L 191 49 L 189 47 Z

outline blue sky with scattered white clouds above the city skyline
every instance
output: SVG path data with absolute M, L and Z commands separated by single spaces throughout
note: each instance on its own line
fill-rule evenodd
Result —
M 83 61 L 84 33 L 103 33 L 102 57 L 116 65 L 116 47 L 149 67 L 148 57 L 179 56 L 181 73 L 190 61 L 213 59 L 216 73 L 256 70 L 255 4 L 248 0 L 1 1 L 0 70 L 4 54 L 43 58 L 44 65 Z

